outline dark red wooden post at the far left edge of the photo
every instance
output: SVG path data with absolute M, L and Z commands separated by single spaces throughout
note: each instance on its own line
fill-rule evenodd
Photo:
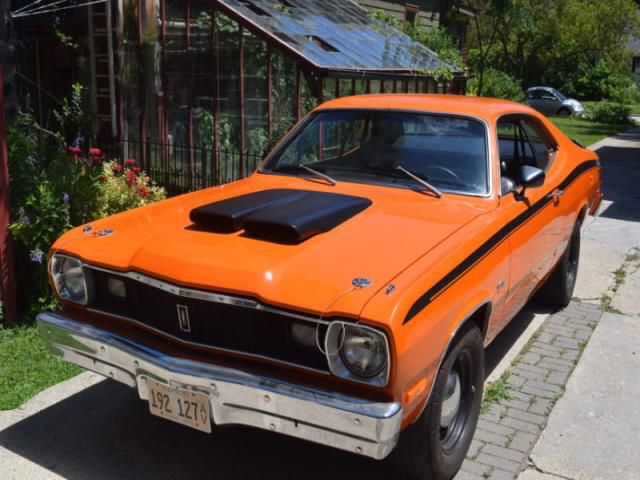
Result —
M 16 283 L 9 236 L 9 158 L 4 118 L 4 76 L 0 65 L 0 300 L 8 323 L 16 321 Z

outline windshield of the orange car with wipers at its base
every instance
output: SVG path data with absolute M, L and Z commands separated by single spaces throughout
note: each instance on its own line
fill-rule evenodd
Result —
M 307 165 L 337 181 L 419 186 L 403 167 L 443 192 L 489 192 L 486 131 L 453 115 L 374 110 L 312 115 L 262 168 L 308 175 Z

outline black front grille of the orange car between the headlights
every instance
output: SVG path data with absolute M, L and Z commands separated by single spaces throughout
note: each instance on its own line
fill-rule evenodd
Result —
M 117 273 L 91 269 L 91 274 L 92 309 L 135 320 L 185 342 L 328 371 L 326 357 L 317 347 L 303 347 L 290 338 L 292 324 L 313 323 L 277 312 L 174 295 Z M 109 278 L 125 283 L 126 298 L 109 292 Z M 178 306 L 183 316 L 187 312 L 188 332 L 180 328 Z M 323 339 L 326 327 L 321 324 L 319 328 L 318 336 Z

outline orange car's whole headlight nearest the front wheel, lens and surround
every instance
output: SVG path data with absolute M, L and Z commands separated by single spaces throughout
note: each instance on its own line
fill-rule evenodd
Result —
M 387 384 L 389 346 L 381 331 L 363 325 L 333 322 L 325 337 L 325 349 L 334 375 L 377 386 Z

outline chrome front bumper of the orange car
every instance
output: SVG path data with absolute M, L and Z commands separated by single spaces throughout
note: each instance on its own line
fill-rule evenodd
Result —
M 56 313 L 38 315 L 38 327 L 53 353 L 137 388 L 143 400 L 148 399 L 146 378 L 206 394 L 217 425 L 249 425 L 376 459 L 386 457 L 398 439 L 399 403 L 375 403 L 171 357 Z

